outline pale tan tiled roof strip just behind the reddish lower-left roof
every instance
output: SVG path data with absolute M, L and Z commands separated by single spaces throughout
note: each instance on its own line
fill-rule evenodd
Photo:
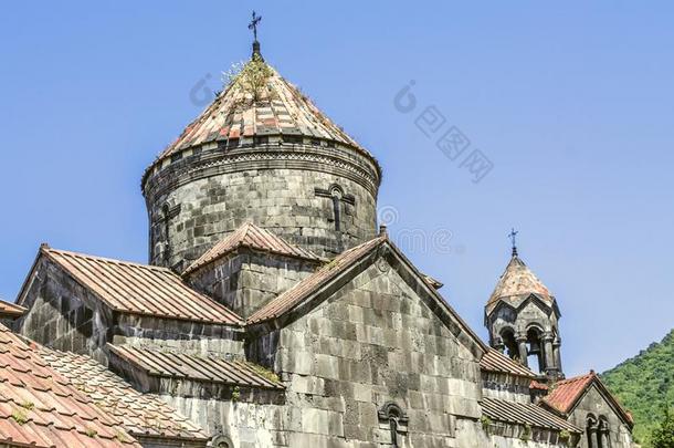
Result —
M 157 396 L 137 392 L 95 360 L 49 348 L 42 348 L 40 354 L 96 406 L 120 420 L 134 437 L 203 440 L 204 444 L 210 439 Z

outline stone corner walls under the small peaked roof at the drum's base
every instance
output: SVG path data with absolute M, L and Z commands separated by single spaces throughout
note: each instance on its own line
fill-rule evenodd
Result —
M 241 249 L 196 271 L 189 283 L 246 319 L 317 267 L 314 261 Z

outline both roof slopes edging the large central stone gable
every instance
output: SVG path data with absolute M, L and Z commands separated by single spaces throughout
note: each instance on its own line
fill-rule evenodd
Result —
M 381 250 L 381 251 L 380 251 Z M 449 316 L 452 323 L 452 332 L 456 336 L 465 333 L 481 352 L 485 352 L 487 346 L 473 332 L 473 330 L 456 314 L 456 312 L 445 302 L 440 293 L 425 280 L 417 268 L 404 257 L 402 252 L 393 244 L 386 232 L 361 243 L 352 249 L 346 250 L 337 256 L 333 261 L 322 267 L 314 274 L 302 280 L 295 286 L 273 299 L 266 305 L 257 310 L 248 319 L 249 325 L 272 321 L 291 312 L 303 303 L 307 303 L 313 298 L 317 296 L 323 291 L 329 291 L 330 288 L 339 288 L 339 278 L 348 275 L 349 272 L 360 273 L 361 270 L 354 269 L 361 267 L 365 270 L 371 265 L 383 253 L 390 252 L 393 259 L 399 261 L 403 271 L 409 273 L 409 277 L 415 279 L 415 291 L 418 293 L 425 292 L 433 303 L 434 311 Z M 399 272 L 403 272 L 399 271 Z M 445 322 L 446 324 L 446 322 Z

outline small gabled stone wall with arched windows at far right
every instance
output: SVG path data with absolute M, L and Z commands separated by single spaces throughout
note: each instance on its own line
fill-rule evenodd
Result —
M 592 414 L 596 418 L 599 418 L 600 416 L 604 416 L 607 418 L 610 429 L 609 437 L 611 439 L 611 448 L 632 447 L 632 436 L 629 428 L 624 423 L 622 423 L 618 414 L 615 414 L 613 408 L 609 405 L 603 395 L 601 395 L 594 385 L 592 385 L 580 399 L 580 403 L 569 416 L 569 421 L 579 428 L 585 429 L 587 427 L 588 414 Z M 589 448 L 587 434 L 582 436 L 579 447 Z M 596 442 L 593 447 L 597 447 Z

